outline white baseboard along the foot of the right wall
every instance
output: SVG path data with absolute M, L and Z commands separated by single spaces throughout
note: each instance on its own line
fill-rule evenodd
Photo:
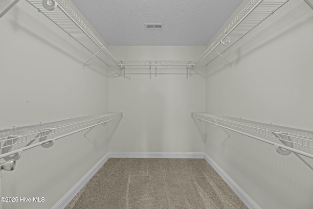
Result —
M 247 194 L 242 190 L 225 172 L 215 163 L 206 153 L 204 159 L 208 162 L 216 172 L 224 179 L 227 185 L 237 194 L 237 196 L 246 204 L 249 209 L 261 209 Z

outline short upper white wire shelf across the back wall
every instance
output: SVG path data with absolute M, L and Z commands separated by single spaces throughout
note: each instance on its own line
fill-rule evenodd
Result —
M 123 66 L 193 66 L 195 61 L 188 60 L 127 60 L 120 61 Z

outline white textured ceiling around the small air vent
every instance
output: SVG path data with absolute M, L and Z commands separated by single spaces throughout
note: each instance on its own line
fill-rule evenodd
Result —
M 111 46 L 207 45 L 243 0 L 72 0 Z M 144 23 L 164 23 L 145 29 Z

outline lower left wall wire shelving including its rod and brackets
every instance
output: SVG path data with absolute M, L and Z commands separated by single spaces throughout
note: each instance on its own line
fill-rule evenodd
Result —
M 97 125 L 106 124 L 122 116 L 122 113 L 106 113 L 0 130 L 0 159 L 3 158 L 6 161 L 18 160 L 21 157 L 19 153 L 24 150 L 40 145 L 48 148 L 53 145 L 56 139 L 61 139 L 87 129 L 90 131 Z M 22 145 L 23 147 L 20 148 L 21 146 L 15 145 Z M 12 150 L 13 147 L 17 148 Z

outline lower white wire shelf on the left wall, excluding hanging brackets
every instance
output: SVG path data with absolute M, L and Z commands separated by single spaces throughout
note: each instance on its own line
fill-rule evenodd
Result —
M 12 147 L 14 145 L 28 142 L 25 145 L 25 147 L 27 147 L 37 139 L 39 139 L 39 141 L 43 141 L 46 140 L 47 137 L 53 137 L 56 134 L 60 135 L 68 133 L 69 131 L 75 131 L 93 126 L 100 122 L 110 121 L 118 117 L 122 117 L 122 113 L 82 116 L 56 122 L 0 130 L 1 153 L 2 155 L 5 155 L 8 152 L 12 152 Z M 3 156 L 1 158 L 3 158 Z

